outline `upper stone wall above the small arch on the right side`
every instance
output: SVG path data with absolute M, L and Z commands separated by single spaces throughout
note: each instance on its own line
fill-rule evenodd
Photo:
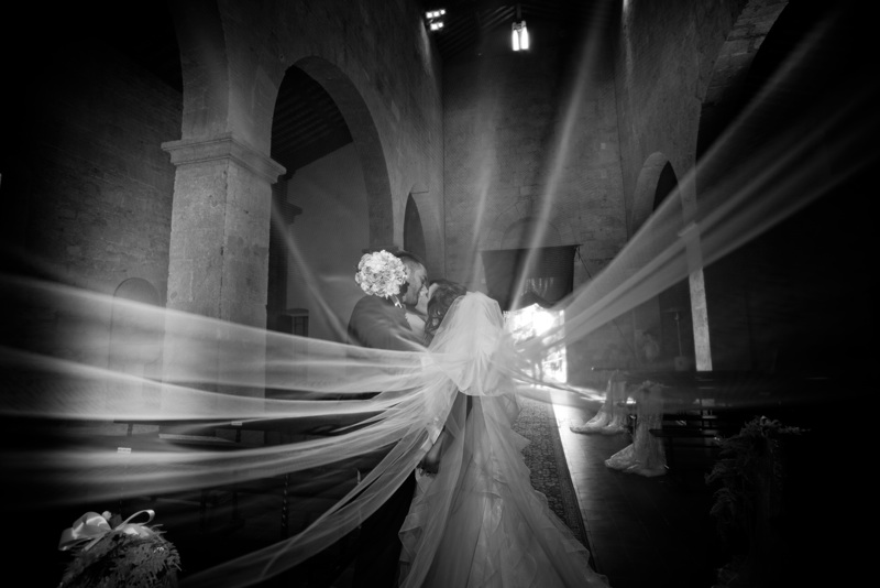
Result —
M 718 53 L 747 2 L 638 2 L 622 6 L 614 46 L 620 167 L 629 236 L 637 182 L 652 155 L 668 161 L 682 196 L 694 167 L 702 100 Z M 653 190 L 650 190 L 652 198 Z M 686 213 L 686 209 L 685 209 Z

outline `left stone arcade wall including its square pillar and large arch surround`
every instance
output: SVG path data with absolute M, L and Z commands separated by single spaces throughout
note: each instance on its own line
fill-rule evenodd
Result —
M 265 325 L 266 284 L 257 279 L 268 268 L 267 247 L 262 247 L 270 228 L 265 203 L 284 172 L 268 155 L 275 100 L 290 67 L 327 91 L 351 132 L 367 195 L 369 242 L 362 247 L 403 243 L 406 200 L 416 186 L 430 195 L 421 217 L 437 225 L 442 208 L 439 74 L 415 7 L 221 1 L 175 9 L 185 102 L 183 138 L 165 145 L 179 165 L 169 265 L 175 308 Z M 231 172 L 208 163 L 215 160 L 254 175 L 233 184 Z M 204 189 L 208 184 L 213 187 Z M 178 200 L 191 209 L 178 214 Z M 215 200 L 224 207 L 223 230 L 246 225 L 250 232 L 211 232 L 209 242 L 189 249 L 193 230 L 206 229 L 190 219 L 210 216 Z M 230 224 L 230 218 L 239 220 Z M 429 249 L 442 255 L 439 232 L 433 236 Z M 223 259 L 216 260 L 217 252 Z M 205 283 L 220 287 L 187 290 Z M 226 284 L 242 288 L 228 291 Z M 172 300 L 175 294 L 180 296 Z

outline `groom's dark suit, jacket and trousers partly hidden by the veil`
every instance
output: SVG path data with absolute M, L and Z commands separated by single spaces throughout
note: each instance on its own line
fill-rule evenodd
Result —
M 349 338 L 353 345 L 374 349 L 408 350 L 411 344 L 421 345 L 406 319 L 406 312 L 378 296 L 364 296 L 349 320 Z M 407 477 L 392 497 L 361 525 L 358 562 L 354 566 L 354 586 L 396 586 L 400 540 L 397 532 L 404 524 L 413 493 L 416 489 L 415 471 Z

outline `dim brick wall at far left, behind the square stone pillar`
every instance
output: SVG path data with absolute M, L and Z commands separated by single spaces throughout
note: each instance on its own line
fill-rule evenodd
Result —
M 160 144 L 179 133 L 180 94 L 107 46 L 68 45 L 65 59 L 20 78 L 18 124 L 3 137 L 3 253 L 15 268 L 108 297 L 143 281 L 163 305 L 174 166 Z M 23 345 L 107 364 L 110 305 L 75 318 L 35 302 L 16 317 Z

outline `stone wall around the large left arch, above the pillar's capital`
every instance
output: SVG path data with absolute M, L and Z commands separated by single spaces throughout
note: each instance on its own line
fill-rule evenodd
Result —
M 276 1 L 261 10 L 246 1 L 218 6 L 231 87 L 227 130 L 267 152 L 275 92 L 284 72 L 300 66 L 337 101 L 355 143 L 377 133 L 375 144 L 360 148 L 362 159 L 377 156 L 363 162 L 367 187 L 372 175 L 382 176 L 375 182 L 391 198 L 382 213 L 391 216 L 382 222 L 387 236 L 376 239 L 403 244 L 414 187 L 431 194 L 432 210 L 421 210 L 422 217 L 439 214 L 440 64 L 418 7 L 370 0 Z

